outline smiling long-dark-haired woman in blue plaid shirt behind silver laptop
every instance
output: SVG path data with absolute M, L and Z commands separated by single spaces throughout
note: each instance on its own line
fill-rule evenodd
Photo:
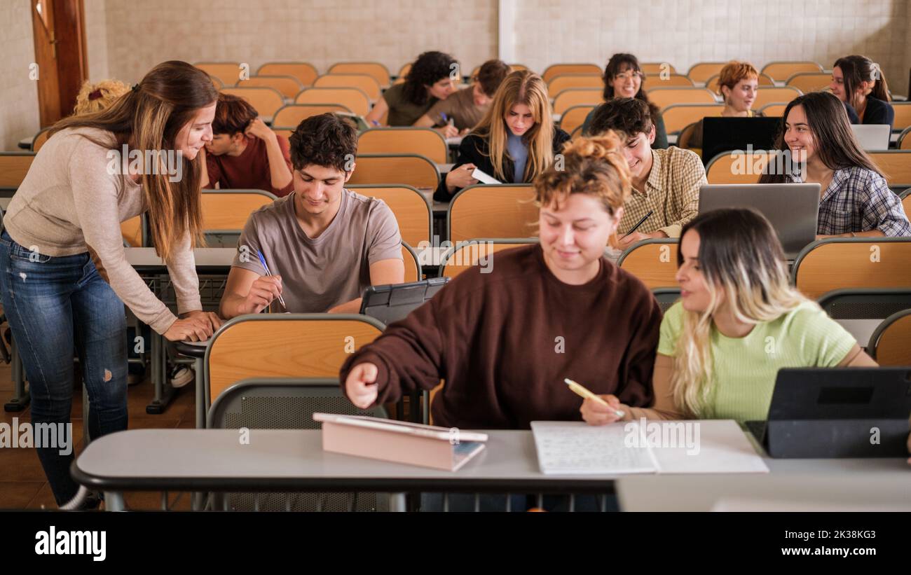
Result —
M 844 105 L 826 92 L 798 96 L 784 109 L 775 147 L 805 161 L 805 173 L 763 174 L 763 184 L 804 182 L 822 187 L 817 237 L 907 237 L 901 200 L 855 140 Z M 800 164 L 794 162 L 794 169 Z

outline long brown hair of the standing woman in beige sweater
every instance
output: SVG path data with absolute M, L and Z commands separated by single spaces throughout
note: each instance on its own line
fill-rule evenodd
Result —
M 120 150 L 128 145 L 143 157 L 148 152 L 177 148 L 177 134 L 197 111 L 215 104 L 218 92 L 208 74 L 186 62 L 171 60 L 152 68 L 125 96 L 111 106 L 86 116 L 69 116 L 51 128 L 49 136 L 67 128 L 91 127 L 106 130 L 114 141 L 96 141 L 98 146 Z M 88 136 L 86 136 L 88 137 Z M 182 177 L 169 181 L 162 170 L 142 170 L 139 183 L 148 207 L 148 223 L 156 252 L 168 259 L 171 248 L 189 233 L 192 247 L 204 244 L 202 237 L 200 156 L 192 161 L 181 157 Z

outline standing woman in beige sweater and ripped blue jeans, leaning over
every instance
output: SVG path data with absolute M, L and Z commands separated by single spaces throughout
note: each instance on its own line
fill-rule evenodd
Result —
M 61 120 L 37 153 L 0 236 L 0 292 L 26 368 L 32 423 L 70 423 L 77 355 L 91 436 L 127 429 L 124 304 L 169 340 L 202 340 L 219 328 L 201 310 L 192 251 L 202 237 L 197 155 L 212 137 L 216 96 L 205 72 L 165 62 L 104 110 Z M 143 212 L 181 318 L 125 256 L 120 223 Z M 57 504 L 73 499 L 72 452 L 36 450 Z M 84 502 L 94 506 L 97 499 Z

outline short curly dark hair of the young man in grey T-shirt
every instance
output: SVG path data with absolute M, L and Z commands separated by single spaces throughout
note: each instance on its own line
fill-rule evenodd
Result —
M 357 131 L 339 116 L 310 116 L 294 128 L 289 138 L 294 169 L 304 166 L 334 167 L 351 171 L 357 156 Z

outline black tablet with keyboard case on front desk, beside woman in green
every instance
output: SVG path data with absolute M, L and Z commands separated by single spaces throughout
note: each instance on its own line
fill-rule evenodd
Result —
M 909 417 L 911 367 L 785 368 L 746 426 L 773 458 L 907 457 Z

